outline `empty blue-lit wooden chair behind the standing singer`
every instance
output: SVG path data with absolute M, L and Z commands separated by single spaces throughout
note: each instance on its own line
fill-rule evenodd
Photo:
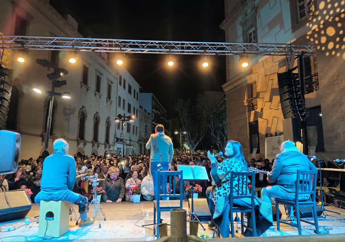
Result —
M 183 171 L 158 171 L 158 185 L 161 179 L 169 181 L 169 191 L 167 191 L 167 194 L 160 194 L 160 191 L 158 191 L 157 200 L 154 200 L 153 234 L 155 235 L 157 230 L 157 239 L 159 238 L 158 224 L 160 222 L 160 212 L 170 211 L 171 209 L 182 209 L 183 182 L 180 182 L 180 194 L 176 194 L 176 176 L 179 176 L 180 181 L 183 181 Z M 161 197 L 176 197 L 178 200 L 160 200 Z

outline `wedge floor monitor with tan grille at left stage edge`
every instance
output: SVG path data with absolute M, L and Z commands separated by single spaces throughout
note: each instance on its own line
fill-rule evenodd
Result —
M 0 222 L 23 219 L 32 207 L 24 190 L 0 192 Z

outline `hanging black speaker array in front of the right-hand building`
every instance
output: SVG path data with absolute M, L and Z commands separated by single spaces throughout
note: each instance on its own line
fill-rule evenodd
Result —
M 292 72 L 294 69 L 278 73 L 280 104 L 284 118 L 298 118 L 300 121 L 306 121 L 304 95 L 298 73 Z

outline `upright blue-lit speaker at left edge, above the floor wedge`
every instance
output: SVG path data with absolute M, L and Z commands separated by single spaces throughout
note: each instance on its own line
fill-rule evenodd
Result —
M 20 153 L 20 134 L 0 130 L 0 175 L 17 171 Z

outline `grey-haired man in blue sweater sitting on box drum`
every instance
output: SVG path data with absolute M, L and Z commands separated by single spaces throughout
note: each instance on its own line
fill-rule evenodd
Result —
M 87 216 L 89 210 L 88 199 L 72 192 L 76 181 L 76 162 L 68 155 L 68 144 L 64 139 L 53 142 L 54 153 L 48 156 L 43 164 L 41 178 L 41 192 L 35 197 L 35 202 L 67 201 L 79 206 L 79 225 L 88 225 L 94 219 Z

